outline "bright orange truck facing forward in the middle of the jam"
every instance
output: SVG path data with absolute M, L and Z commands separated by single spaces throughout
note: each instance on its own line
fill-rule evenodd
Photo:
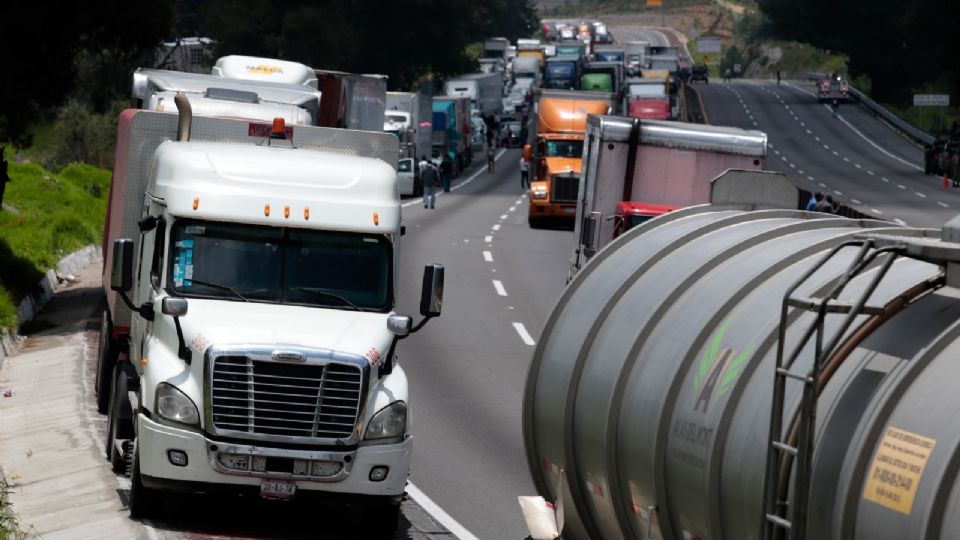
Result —
M 550 218 L 573 220 L 577 213 L 583 133 L 588 114 L 610 114 L 615 94 L 539 90 L 534 97 L 536 140 L 523 149 L 530 162 L 531 227 Z

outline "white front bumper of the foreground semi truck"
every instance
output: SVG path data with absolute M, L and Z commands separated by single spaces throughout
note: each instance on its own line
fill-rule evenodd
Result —
M 273 478 L 295 481 L 298 491 L 399 496 L 404 492 L 410 471 L 413 440 L 409 435 L 395 444 L 360 446 L 347 451 L 292 450 L 216 441 L 199 431 L 160 424 L 143 414 L 138 420 L 140 474 L 147 487 L 157 489 L 203 492 L 236 488 L 236 491 L 244 491 L 244 488 L 259 486 L 263 478 Z M 173 465 L 170 450 L 184 452 L 186 466 Z M 340 462 L 343 467 L 323 480 L 276 471 L 236 471 L 219 463 L 217 457 L 223 453 L 267 457 L 282 462 Z M 371 481 L 370 471 L 378 466 L 389 467 L 389 472 L 382 481 Z

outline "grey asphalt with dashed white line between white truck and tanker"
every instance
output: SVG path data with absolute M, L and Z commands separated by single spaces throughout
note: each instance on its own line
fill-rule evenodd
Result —
M 416 200 L 403 210 L 400 312 L 417 313 L 424 264 L 446 267 L 443 315 L 398 348 L 411 388 L 411 481 L 483 539 L 527 535 L 516 497 L 536 491 L 523 385 L 573 242 L 570 230 L 527 225 L 519 159 L 506 151 L 496 174 L 443 194 L 436 210 Z

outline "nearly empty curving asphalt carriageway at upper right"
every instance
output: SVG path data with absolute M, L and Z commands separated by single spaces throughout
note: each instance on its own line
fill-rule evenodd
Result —
M 923 151 L 860 105 L 833 118 L 806 81 L 698 86 L 709 121 L 767 133 L 767 168 L 881 219 L 939 228 L 957 215 L 960 190 L 923 174 Z

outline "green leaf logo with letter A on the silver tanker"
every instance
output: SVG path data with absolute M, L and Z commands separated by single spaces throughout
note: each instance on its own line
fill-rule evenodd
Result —
M 729 327 L 729 319 L 720 324 L 720 328 L 710 340 L 710 346 L 700 359 L 700 365 L 693 378 L 694 411 L 700 410 L 706 414 L 715 399 L 729 392 L 737 377 L 740 376 L 740 372 L 743 371 L 747 359 L 753 354 L 753 345 L 740 353 L 723 347 L 723 338 Z

